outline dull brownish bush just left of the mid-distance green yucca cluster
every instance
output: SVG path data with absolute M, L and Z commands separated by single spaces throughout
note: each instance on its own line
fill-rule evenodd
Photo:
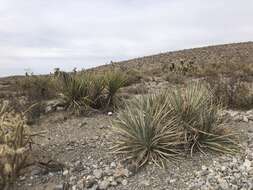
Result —
M 17 80 L 16 86 L 30 101 L 50 99 L 57 93 L 54 80 L 50 76 L 27 75 Z

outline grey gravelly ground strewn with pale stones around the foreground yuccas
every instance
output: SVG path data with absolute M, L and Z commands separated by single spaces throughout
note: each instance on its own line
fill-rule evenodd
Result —
M 41 164 L 20 177 L 18 189 L 252 189 L 253 110 L 221 114 L 225 124 L 240 134 L 240 154 L 200 154 L 166 169 L 150 164 L 138 172 L 108 152 L 114 114 L 68 119 L 61 112 L 45 116 L 33 126 L 46 131 L 34 152 Z M 46 164 L 46 160 L 53 161 Z

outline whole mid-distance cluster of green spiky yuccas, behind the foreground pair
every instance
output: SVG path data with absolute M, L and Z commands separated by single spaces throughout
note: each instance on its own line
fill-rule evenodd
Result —
M 92 109 L 105 109 L 115 105 L 117 92 L 125 85 L 126 76 L 110 71 L 105 75 L 82 72 L 59 75 L 61 99 L 66 109 L 78 114 Z

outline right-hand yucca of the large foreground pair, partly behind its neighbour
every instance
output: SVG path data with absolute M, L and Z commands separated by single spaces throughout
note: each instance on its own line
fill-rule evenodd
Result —
M 239 145 L 236 135 L 219 125 L 220 106 L 213 101 L 212 93 L 200 83 L 168 93 L 170 109 L 184 130 L 185 142 L 191 155 L 194 151 L 211 149 L 220 153 L 235 153 Z

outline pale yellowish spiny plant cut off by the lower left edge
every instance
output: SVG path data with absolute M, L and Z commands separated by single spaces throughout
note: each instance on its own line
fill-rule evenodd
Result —
M 32 134 L 22 114 L 0 110 L 0 188 L 11 189 L 26 166 L 31 151 Z

